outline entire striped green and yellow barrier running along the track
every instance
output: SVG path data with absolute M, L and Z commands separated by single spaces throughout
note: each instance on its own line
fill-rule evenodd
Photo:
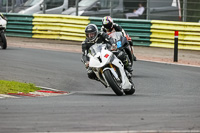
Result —
M 100 30 L 101 19 L 55 14 L 4 14 L 8 19 L 7 36 L 83 41 L 89 23 Z M 133 44 L 174 47 L 174 31 L 179 31 L 179 49 L 200 50 L 200 23 L 177 21 L 114 19 L 132 38 Z M 9 45 L 9 44 L 8 44 Z

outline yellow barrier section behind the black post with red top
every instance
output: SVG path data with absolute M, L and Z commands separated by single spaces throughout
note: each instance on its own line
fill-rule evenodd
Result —
M 151 21 L 151 45 L 174 48 L 174 31 L 179 31 L 178 48 L 200 50 L 200 23 Z

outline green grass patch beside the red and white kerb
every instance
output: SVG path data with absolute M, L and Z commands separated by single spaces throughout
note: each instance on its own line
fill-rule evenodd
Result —
M 40 88 L 36 87 L 32 83 L 20 83 L 16 81 L 0 80 L 0 94 L 18 92 L 29 93 L 34 92 L 36 90 L 40 90 Z

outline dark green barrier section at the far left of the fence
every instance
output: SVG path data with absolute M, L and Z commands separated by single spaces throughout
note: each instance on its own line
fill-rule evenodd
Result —
M 6 35 L 18 37 L 32 37 L 32 15 L 4 14 L 8 20 Z

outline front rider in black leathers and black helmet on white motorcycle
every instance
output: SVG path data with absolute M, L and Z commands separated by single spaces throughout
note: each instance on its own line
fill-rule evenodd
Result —
M 82 42 L 82 62 L 85 64 L 87 74 L 90 79 L 97 80 L 95 73 L 89 67 L 89 57 L 87 56 L 89 48 L 95 43 L 106 43 L 108 49 L 115 51 L 117 45 L 114 40 L 105 32 L 98 32 L 95 24 L 89 24 L 85 28 L 86 39 Z M 123 62 L 125 69 L 132 75 L 132 67 L 128 56 L 123 51 L 119 51 L 117 57 Z M 131 78 L 131 77 L 130 77 Z

